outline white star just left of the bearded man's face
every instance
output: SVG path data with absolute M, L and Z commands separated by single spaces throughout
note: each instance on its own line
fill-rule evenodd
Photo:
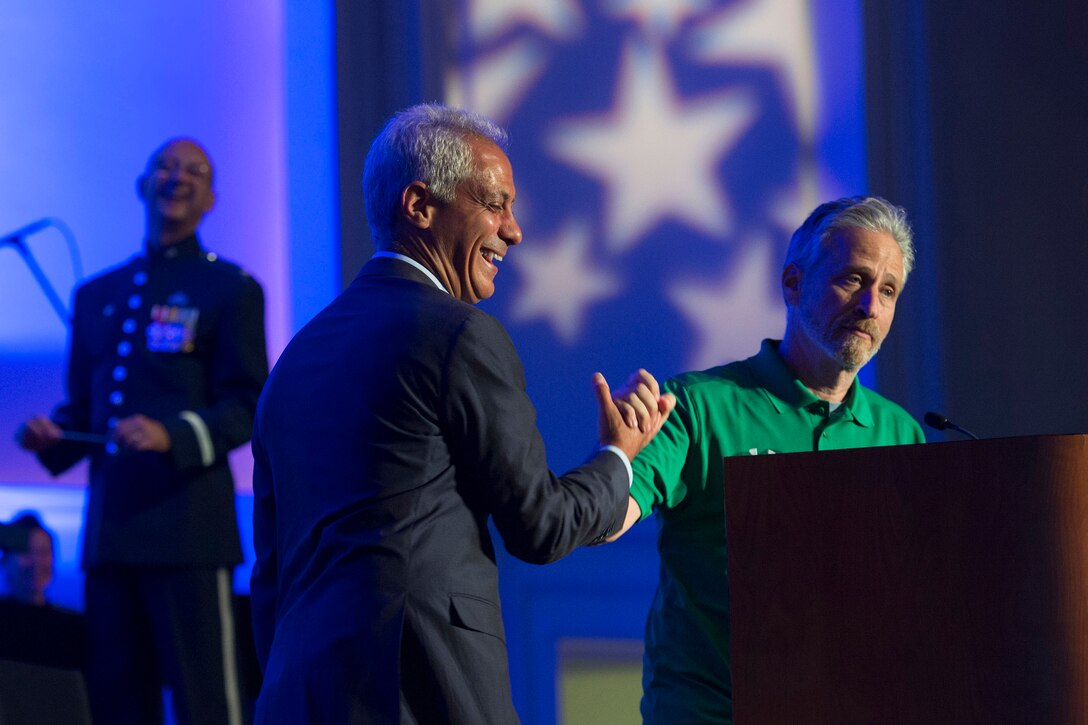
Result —
M 718 283 L 668 286 L 669 302 L 693 328 L 692 370 L 751 357 L 764 337 L 781 339 L 786 305 L 774 250 L 765 238 L 749 239 Z

